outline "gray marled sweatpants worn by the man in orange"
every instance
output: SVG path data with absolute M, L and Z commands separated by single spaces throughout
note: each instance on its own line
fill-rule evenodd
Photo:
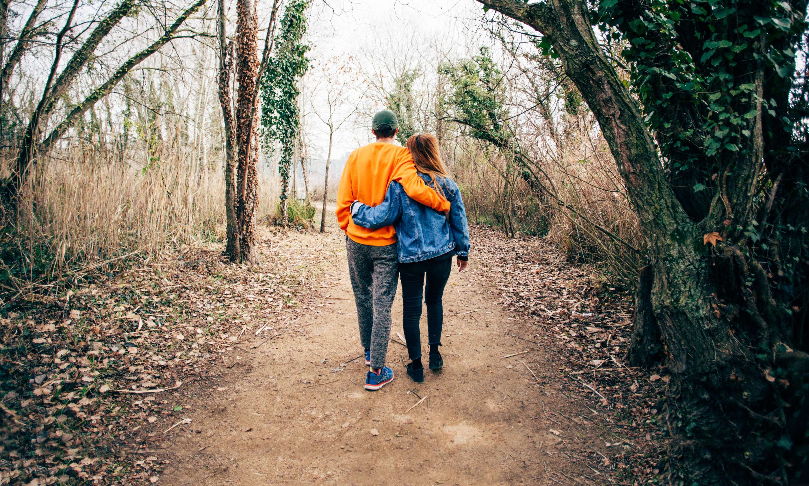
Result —
M 359 339 L 371 349 L 371 368 L 382 368 L 391 337 L 391 307 L 399 284 L 396 244 L 362 245 L 345 238 L 351 287 L 357 304 Z

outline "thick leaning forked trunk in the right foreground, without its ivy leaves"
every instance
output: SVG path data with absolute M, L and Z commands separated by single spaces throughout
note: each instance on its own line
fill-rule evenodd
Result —
M 759 90 L 742 112 L 759 113 L 745 122 L 752 134 L 751 146 L 739 154 L 747 155 L 739 155 L 720 174 L 722 190 L 705 220 L 695 223 L 667 181 L 633 96 L 599 46 L 587 3 L 479 1 L 527 23 L 550 41 L 565 74 L 598 120 L 625 181 L 650 255 L 647 271 L 651 275 L 642 275 L 638 288 L 637 310 L 642 318 L 636 326 L 642 332 L 659 332 L 673 378 L 668 405 L 676 429 L 671 433 L 680 434 L 680 443 L 676 454 L 670 454 L 670 470 L 684 476 L 688 484 L 786 484 L 787 465 L 804 466 L 799 454 L 784 450 L 798 450 L 806 437 L 805 428 L 790 428 L 790 423 L 797 422 L 781 410 L 801 406 L 798 390 L 803 378 L 786 390 L 789 385 L 777 382 L 757 360 L 773 368 L 783 365 L 777 350 L 790 350 L 782 343 L 791 341 L 779 326 L 794 304 L 773 300 L 768 272 L 752 258 L 747 237 L 735 229 L 748 228 L 751 221 L 743 218 L 751 212 L 752 188 L 763 158 L 760 100 L 764 96 Z M 749 68 L 756 78 L 753 83 L 760 85 L 763 61 Z M 719 246 L 705 244 L 703 236 L 718 231 L 725 241 Z M 779 313 L 779 309 L 786 311 Z M 643 347 L 649 338 L 635 339 L 631 359 L 648 362 Z M 764 357 L 754 352 L 763 352 Z M 782 399 L 781 390 L 793 394 L 792 398 Z

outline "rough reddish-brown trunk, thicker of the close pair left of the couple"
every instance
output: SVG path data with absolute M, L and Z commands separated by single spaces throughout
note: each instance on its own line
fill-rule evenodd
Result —
M 251 114 L 258 89 L 258 21 L 252 0 L 236 2 L 236 96 L 235 139 L 237 146 L 235 220 L 239 240 L 239 262 L 257 263 L 255 245 L 256 206 L 258 203 L 258 144 L 256 126 Z M 254 115 L 257 117 L 257 113 Z

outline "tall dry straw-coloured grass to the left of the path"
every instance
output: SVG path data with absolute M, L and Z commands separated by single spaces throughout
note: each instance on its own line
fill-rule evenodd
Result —
M 273 211 L 277 194 L 274 178 L 262 178 L 257 220 Z M 6 228 L 4 300 L 224 236 L 222 164 L 206 167 L 195 151 L 121 157 L 75 147 L 41 160 L 31 191 Z

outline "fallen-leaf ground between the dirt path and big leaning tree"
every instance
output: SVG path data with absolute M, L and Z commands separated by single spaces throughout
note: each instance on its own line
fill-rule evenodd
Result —
M 481 285 L 515 317 L 532 322 L 516 339 L 554 357 L 555 383 L 571 401 L 583 400 L 591 416 L 536 411 L 560 426 L 595 426 L 609 456 L 593 450 L 565 450 L 571 459 L 597 468 L 596 484 L 667 484 L 670 436 L 664 367 L 625 364 L 632 337 L 633 293 L 604 279 L 592 266 L 565 262 L 547 238 L 508 237 L 490 228 L 473 230 L 475 263 L 485 268 Z M 526 356 L 531 356 L 527 354 Z M 529 361 L 530 362 L 530 361 Z M 552 431 L 564 434 L 564 431 Z M 670 480 L 670 478 L 668 478 Z

